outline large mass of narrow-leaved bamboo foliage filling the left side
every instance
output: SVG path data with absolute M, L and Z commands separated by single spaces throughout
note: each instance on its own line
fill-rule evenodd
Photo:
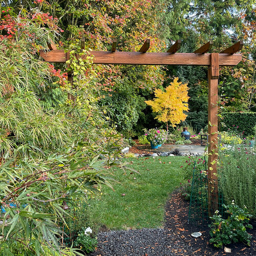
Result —
M 17 20 L 12 37 L 0 44 L 0 255 L 20 248 L 26 255 L 82 255 L 60 246 L 64 205 L 110 185 L 106 167 L 116 165 L 111 159 L 120 138 L 95 104 L 93 79 L 80 77 L 84 83 L 73 89 L 65 79 L 56 83 L 37 54 L 50 31 L 29 18 Z M 74 102 L 64 100 L 68 90 Z

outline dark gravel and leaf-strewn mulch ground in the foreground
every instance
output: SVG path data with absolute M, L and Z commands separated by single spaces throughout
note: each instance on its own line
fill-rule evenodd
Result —
M 98 248 L 90 256 L 155 256 L 155 255 L 256 255 L 256 223 L 253 229 L 251 247 L 242 243 L 227 245 L 231 253 L 217 249 L 209 244 L 207 224 L 195 226 L 188 224 L 189 203 L 184 200 L 179 190 L 172 194 L 166 204 L 165 226 L 163 229 L 138 229 L 106 231 L 98 234 Z M 114 218 L 114 217 L 113 217 Z M 129 218 L 129 216 L 127 216 Z M 200 238 L 190 234 L 200 231 Z

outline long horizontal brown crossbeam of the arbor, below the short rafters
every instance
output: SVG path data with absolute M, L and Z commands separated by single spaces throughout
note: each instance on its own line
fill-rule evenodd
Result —
M 131 64 L 131 65 L 185 65 L 209 66 L 210 53 L 154 53 L 146 52 L 105 52 L 91 51 L 94 64 Z M 40 50 L 40 56 L 48 62 L 66 62 L 64 50 Z M 84 56 L 86 58 L 87 56 Z M 219 54 L 220 66 L 236 66 L 242 60 L 242 54 Z

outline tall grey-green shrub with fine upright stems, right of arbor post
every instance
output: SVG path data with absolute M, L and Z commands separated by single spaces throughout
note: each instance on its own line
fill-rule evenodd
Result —
M 256 216 L 256 155 L 246 145 L 233 145 L 219 151 L 219 185 L 224 201 L 232 200 L 237 205 L 247 206 L 248 211 Z

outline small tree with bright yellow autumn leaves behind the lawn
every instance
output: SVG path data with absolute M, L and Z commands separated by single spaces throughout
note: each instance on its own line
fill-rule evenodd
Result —
M 146 100 L 146 104 L 152 106 L 153 112 L 157 113 L 156 119 L 166 122 L 168 132 L 168 122 L 174 127 L 176 124 L 186 119 L 185 111 L 188 111 L 187 83 L 178 82 L 178 77 L 165 89 L 165 92 L 156 89 L 155 99 Z

